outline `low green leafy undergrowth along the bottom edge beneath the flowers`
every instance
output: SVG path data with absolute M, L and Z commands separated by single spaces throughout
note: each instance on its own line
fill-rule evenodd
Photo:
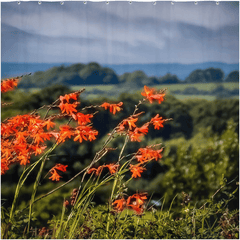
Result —
M 235 184 L 232 183 L 232 184 Z M 224 189 L 224 186 L 222 187 Z M 221 191 L 221 189 L 219 189 Z M 219 193 L 217 193 L 219 194 Z M 216 195 L 217 195 L 216 194 Z M 183 203 L 181 208 L 163 211 L 154 206 L 146 206 L 143 215 L 135 215 L 131 210 L 110 212 L 106 205 L 95 207 L 93 203 L 85 208 L 72 238 L 74 239 L 238 239 L 239 210 L 229 210 L 235 192 L 228 197 L 215 200 L 215 196 L 205 201 L 201 207 L 196 202 Z M 231 195 L 231 197 L 229 197 Z M 182 195 L 184 197 L 184 194 Z M 174 200 L 176 201 L 176 199 Z M 38 235 L 41 229 L 32 233 L 35 238 L 66 239 L 71 230 L 67 225 L 69 211 L 62 211 L 62 217 L 48 221 L 45 234 Z M 106 232 L 107 224 L 110 224 Z M 62 231 L 64 227 L 65 231 Z M 60 234 L 60 235 L 59 235 Z

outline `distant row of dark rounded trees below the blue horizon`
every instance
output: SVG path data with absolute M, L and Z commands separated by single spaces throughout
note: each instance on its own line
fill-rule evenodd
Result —
M 33 75 L 23 77 L 19 84 L 22 88 L 46 87 L 52 84 L 72 85 L 98 85 L 98 84 L 120 84 L 128 87 L 139 88 L 144 85 L 153 86 L 157 84 L 179 84 L 179 83 L 221 83 L 238 82 L 239 71 L 232 71 L 226 77 L 220 68 L 197 69 L 181 81 L 177 75 L 166 74 L 161 77 L 149 77 L 143 71 L 124 73 L 118 76 L 112 69 L 102 67 L 98 63 L 73 64 L 65 67 L 53 67 L 47 71 L 38 71 Z

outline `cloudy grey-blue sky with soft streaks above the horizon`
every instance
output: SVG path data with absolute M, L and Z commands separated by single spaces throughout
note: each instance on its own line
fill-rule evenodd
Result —
M 2 2 L 2 62 L 239 62 L 238 2 Z

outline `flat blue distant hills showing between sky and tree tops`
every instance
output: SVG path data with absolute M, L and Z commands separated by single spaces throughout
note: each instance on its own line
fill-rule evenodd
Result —
M 23 74 L 46 71 L 52 67 L 61 65 L 70 66 L 73 63 L 1 63 L 1 78 L 16 77 Z M 102 67 L 111 68 L 117 75 L 136 70 L 143 71 L 147 76 L 161 77 L 167 73 L 176 74 L 181 80 L 185 80 L 189 74 L 196 69 L 220 68 L 225 77 L 232 71 L 239 70 L 239 64 L 227 64 L 221 62 L 206 62 L 197 64 L 178 63 L 150 63 L 150 64 L 103 64 Z

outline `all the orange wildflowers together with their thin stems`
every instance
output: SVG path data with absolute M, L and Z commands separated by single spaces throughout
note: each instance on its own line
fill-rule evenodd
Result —
M 17 83 L 18 83 L 18 80 L 16 79 L 11 79 L 11 80 L 8 79 L 6 81 L 3 81 L 1 83 L 2 92 L 12 90 L 13 87 L 17 85 Z M 83 91 L 84 89 L 74 93 L 65 94 L 64 96 L 60 96 L 51 105 L 41 107 L 40 109 L 44 107 L 47 108 L 47 113 L 44 116 L 44 118 L 41 118 L 40 115 L 37 113 L 38 110 L 35 110 L 33 113 L 25 114 L 25 115 L 17 115 L 15 117 L 8 118 L 2 122 L 1 124 L 1 132 L 2 132 L 1 174 L 5 174 L 12 164 L 19 163 L 20 165 L 23 165 L 23 166 L 32 164 L 31 157 L 33 155 L 37 156 L 42 154 L 44 150 L 47 148 L 47 141 L 54 142 L 54 145 L 50 149 L 50 151 L 47 151 L 47 154 L 48 154 L 48 152 L 53 151 L 55 147 L 57 147 L 59 144 L 64 143 L 67 139 L 73 139 L 73 141 L 78 141 L 80 143 L 82 143 L 83 141 L 91 142 L 96 140 L 98 131 L 95 130 L 92 126 L 92 118 L 97 112 L 85 113 L 84 111 L 90 108 L 104 108 L 105 110 L 109 109 L 109 111 L 113 115 L 115 115 L 117 112 L 122 110 L 123 103 L 122 102 L 119 102 L 119 103 L 104 102 L 101 105 L 96 105 L 96 106 L 92 105 L 92 106 L 82 108 L 80 110 L 79 106 L 81 102 L 79 100 L 79 96 Z M 115 150 L 107 147 L 108 143 L 112 140 L 115 134 L 125 135 L 126 136 L 125 143 L 127 143 L 129 139 L 130 141 L 140 142 L 142 137 L 144 137 L 144 135 L 148 133 L 149 127 L 152 126 L 154 129 L 159 130 L 163 127 L 164 122 L 170 120 L 170 119 L 162 119 L 162 117 L 160 117 L 159 114 L 157 114 L 155 117 L 152 117 L 150 121 L 144 123 L 142 126 L 137 126 L 139 116 L 143 113 L 143 112 L 137 113 L 139 105 L 146 100 L 148 100 L 150 103 L 153 103 L 154 101 L 156 101 L 160 104 L 162 101 L 164 101 L 165 93 L 164 91 L 160 91 L 159 93 L 157 93 L 154 89 L 150 89 L 147 86 L 145 86 L 144 92 L 142 93 L 142 95 L 146 98 L 143 99 L 142 101 L 139 101 L 139 104 L 135 106 L 135 110 L 131 116 L 123 119 L 117 125 L 117 127 L 114 128 L 108 140 L 105 142 L 103 148 L 96 153 L 96 156 L 92 160 L 92 163 L 88 167 L 80 171 L 77 175 L 72 177 L 68 182 L 71 182 L 78 175 L 84 172 L 84 175 L 81 180 L 81 184 L 82 184 L 86 174 L 96 174 L 97 176 L 100 176 L 104 169 L 108 169 L 110 173 L 110 177 L 104 179 L 104 181 L 107 182 L 108 179 L 114 179 L 115 181 L 114 186 L 116 186 L 117 179 L 119 178 L 120 175 L 124 174 L 126 170 L 131 172 L 132 174 L 131 179 L 139 178 L 141 177 L 141 174 L 146 170 L 146 165 L 150 161 L 152 160 L 158 161 L 162 158 L 163 148 L 155 149 L 154 146 L 146 146 L 145 148 L 140 148 L 134 155 L 132 155 L 133 157 L 130 160 L 127 160 L 127 162 L 122 164 L 121 160 L 124 157 L 126 157 L 126 156 L 121 157 L 125 147 L 124 145 L 117 162 L 103 164 L 98 167 L 93 167 L 93 165 L 97 163 L 109 150 Z M 55 115 L 52 114 L 48 116 L 48 113 L 53 108 L 60 109 L 60 113 Z M 54 120 L 58 118 L 66 118 L 66 119 L 69 119 L 69 121 L 67 124 L 60 125 L 59 129 L 55 129 L 56 124 Z M 34 184 L 34 193 L 32 194 L 32 197 L 31 197 L 29 216 L 31 215 L 30 213 L 32 209 L 32 204 L 35 202 L 36 189 L 37 189 L 39 179 L 41 177 L 42 169 L 44 166 L 44 161 L 42 160 L 42 158 L 40 158 L 38 162 L 40 161 L 42 161 L 42 165 L 40 167 L 39 173 L 37 175 L 37 178 Z M 132 161 L 136 161 L 137 163 L 133 164 Z M 32 164 L 31 165 L 32 169 L 35 166 L 36 165 Z M 60 181 L 60 179 L 62 178 L 60 173 L 66 172 L 67 167 L 68 165 L 63 165 L 60 163 L 54 164 L 54 166 L 48 171 L 48 173 L 51 174 L 49 179 L 51 179 L 52 181 Z M 29 170 L 29 172 L 31 170 Z M 25 179 L 26 178 L 24 178 L 22 182 L 19 183 L 21 186 L 23 185 Z M 95 186 L 97 189 L 98 187 L 97 183 L 94 185 L 94 188 Z M 132 196 L 129 196 L 128 198 L 125 198 L 123 193 L 121 192 L 118 195 L 114 195 L 114 188 L 115 187 L 113 187 L 110 202 L 112 202 L 111 206 L 115 211 L 119 212 L 125 208 L 129 208 L 134 210 L 137 214 L 143 213 L 145 208 L 144 203 L 147 200 L 147 193 L 136 193 Z M 50 193 L 53 193 L 57 189 L 59 188 L 52 190 Z M 75 204 L 79 206 L 79 204 L 84 202 L 84 201 L 79 201 L 79 198 L 84 196 L 81 194 L 80 189 L 81 189 L 81 185 L 79 189 L 75 189 L 73 191 L 70 201 L 66 200 L 64 202 L 65 207 L 67 207 L 68 205 L 71 205 L 74 208 Z M 16 206 L 19 190 L 20 190 L 20 187 L 17 188 L 16 195 L 14 197 L 14 203 L 11 209 L 10 219 L 12 219 L 13 217 L 13 212 Z M 92 190 L 90 191 L 90 193 L 93 193 L 93 192 L 94 191 Z M 47 195 L 48 194 L 46 194 L 45 196 Z M 112 201 L 112 199 L 115 198 L 114 196 L 121 196 L 121 197 L 120 198 L 118 197 L 118 199 L 115 199 L 114 201 Z M 88 197 L 86 197 L 86 199 L 88 199 Z M 29 226 L 30 226 L 30 221 L 28 224 L 28 230 L 29 230 Z M 107 224 L 107 231 L 108 229 L 109 229 L 109 224 Z

